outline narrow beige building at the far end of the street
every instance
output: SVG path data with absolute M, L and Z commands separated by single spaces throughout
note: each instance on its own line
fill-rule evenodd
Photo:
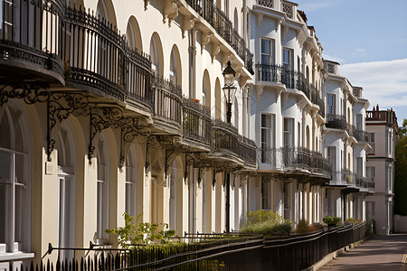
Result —
M 379 106 L 367 111 L 369 144 L 366 173 L 374 180 L 374 194 L 366 198 L 366 219 L 375 221 L 378 234 L 393 231 L 394 154 L 398 138 L 397 117 L 393 109 Z

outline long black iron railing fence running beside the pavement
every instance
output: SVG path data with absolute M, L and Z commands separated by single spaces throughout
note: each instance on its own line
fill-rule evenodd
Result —
M 91 257 L 57 261 L 55 271 L 97 270 L 303 270 L 328 253 L 364 238 L 365 223 L 326 228 L 304 235 L 262 238 L 260 236 L 193 236 L 200 242 L 131 250 L 97 249 Z M 82 249 L 82 248 L 80 248 Z M 83 250 L 83 249 L 82 249 Z M 101 253 L 101 252 L 109 253 Z M 53 271 L 48 261 L 21 270 Z

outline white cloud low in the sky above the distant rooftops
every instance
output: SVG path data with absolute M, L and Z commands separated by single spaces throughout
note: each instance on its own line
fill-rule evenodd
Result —
M 340 71 L 352 85 L 364 88 L 371 106 L 393 107 L 399 119 L 407 118 L 407 59 L 345 64 Z

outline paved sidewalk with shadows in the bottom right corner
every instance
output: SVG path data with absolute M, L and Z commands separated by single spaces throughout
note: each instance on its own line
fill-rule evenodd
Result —
M 404 254 L 407 254 L 407 234 L 378 236 L 338 256 L 319 270 L 407 271 L 407 263 L 402 264 Z

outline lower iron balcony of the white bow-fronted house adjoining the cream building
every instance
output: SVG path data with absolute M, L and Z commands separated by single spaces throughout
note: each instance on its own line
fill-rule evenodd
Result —
M 258 161 L 259 164 L 270 164 L 276 169 L 301 169 L 320 173 L 328 178 L 332 172 L 331 164 L 322 154 L 304 147 L 261 147 L 258 149 Z

